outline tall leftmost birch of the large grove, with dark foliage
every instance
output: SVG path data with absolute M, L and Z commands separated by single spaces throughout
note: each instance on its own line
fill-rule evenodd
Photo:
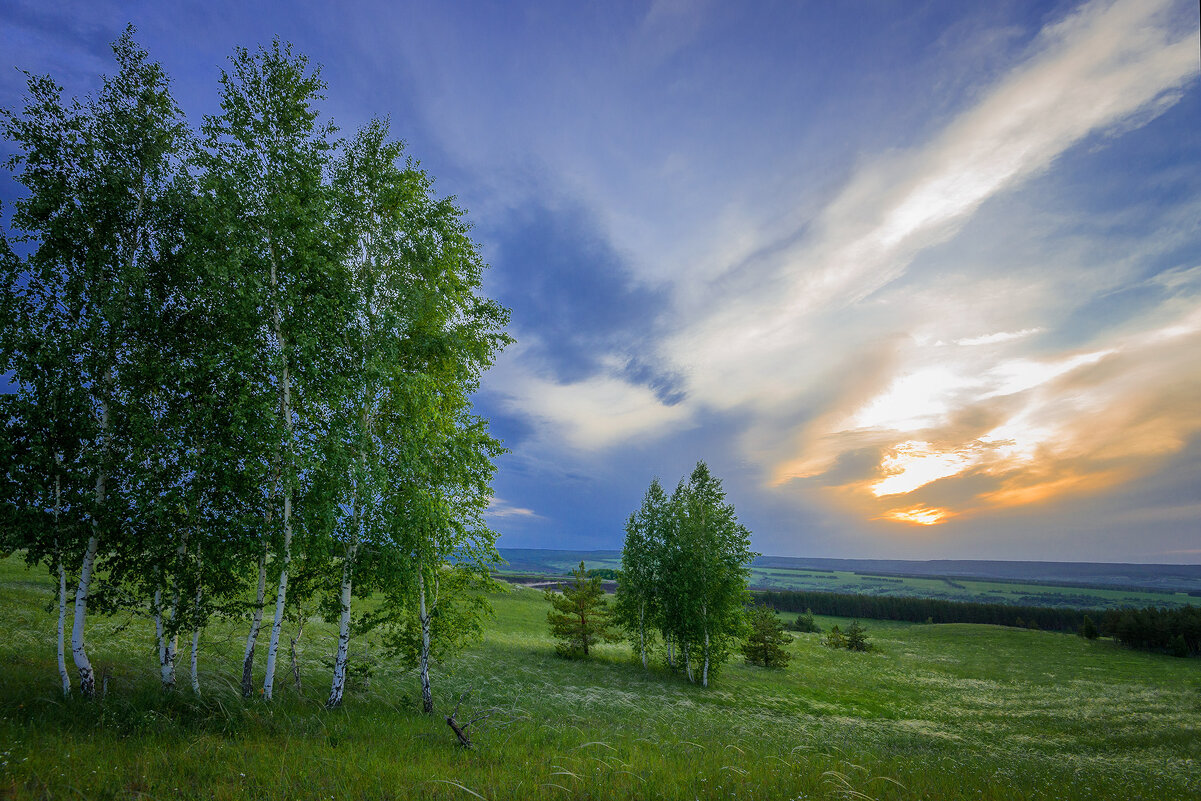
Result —
M 71 630 L 86 697 L 95 694 L 84 634 L 97 560 L 119 550 L 130 516 L 123 480 L 135 466 L 124 456 L 136 400 L 132 354 L 143 334 L 133 299 L 161 256 L 160 226 L 169 216 L 165 198 L 186 137 L 167 76 L 135 43 L 132 28 L 113 52 L 118 71 L 94 97 L 66 101 L 50 78 L 30 76 L 24 109 L 4 118 L 5 133 L 18 147 L 10 167 L 29 192 L 14 204 L 12 222 L 34 245 L 24 270 L 35 303 L 48 304 L 35 316 L 66 321 L 58 329 L 58 367 L 84 399 L 85 413 L 64 422 L 78 435 L 78 456 L 64 456 L 61 467 L 91 483 Z M 40 292 L 38 285 L 56 288 Z M 29 379 L 18 373 L 18 388 Z

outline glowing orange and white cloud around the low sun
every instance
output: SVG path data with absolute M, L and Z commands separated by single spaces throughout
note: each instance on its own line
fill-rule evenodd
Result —
M 1042 363 L 1003 358 L 985 372 L 967 353 L 936 355 L 932 346 L 915 346 L 912 363 L 940 363 L 943 381 L 924 382 L 930 394 L 915 405 L 928 417 L 908 414 L 913 399 L 897 393 L 908 385 L 901 378 L 849 414 L 846 428 L 813 429 L 805 443 L 811 456 L 785 466 L 777 480 L 821 476 L 848 442 L 868 443 L 876 459 L 835 488 L 843 502 L 928 525 L 1146 476 L 1201 432 L 1199 299 L 1155 327 L 1115 335 L 1101 349 Z M 964 385 L 973 391 L 954 391 Z M 876 410 L 895 416 L 864 413 Z M 940 514 L 919 519 L 914 509 Z

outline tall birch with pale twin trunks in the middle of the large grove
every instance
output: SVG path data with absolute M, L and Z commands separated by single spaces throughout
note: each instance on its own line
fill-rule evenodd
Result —
M 221 114 L 203 126 L 205 184 L 225 215 L 223 257 L 240 270 L 241 306 L 251 316 L 241 341 L 259 365 L 255 404 L 274 397 L 270 441 L 252 458 L 263 522 L 243 691 L 251 687 L 270 560 L 277 582 L 263 694 L 271 698 L 298 522 L 293 501 L 311 478 L 305 448 L 322 440 L 305 430 L 313 423 L 305 416 L 321 405 L 328 340 L 346 322 L 324 183 L 334 128 L 317 121 L 318 71 L 279 40 L 253 53 L 239 48 L 221 86 Z

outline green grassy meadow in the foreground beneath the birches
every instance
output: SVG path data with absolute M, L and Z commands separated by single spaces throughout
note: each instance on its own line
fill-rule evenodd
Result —
M 64 701 L 52 590 L 0 562 L 2 797 L 1201 797 L 1201 664 L 1105 640 L 870 621 L 876 652 L 796 635 L 787 670 L 731 660 L 701 689 L 644 673 L 626 646 L 555 657 L 545 599 L 518 588 L 494 598 L 485 640 L 435 673 L 443 715 L 466 691 L 460 718 L 497 710 L 464 751 L 388 664 L 323 710 L 334 630 L 319 621 L 304 694 L 285 659 L 267 704 L 232 686 L 240 622 L 205 632 L 193 699 L 186 679 L 157 688 L 149 620 L 94 618 L 108 694 Z M 353 656 L 365 647 L 377 652 L 358 641 Z

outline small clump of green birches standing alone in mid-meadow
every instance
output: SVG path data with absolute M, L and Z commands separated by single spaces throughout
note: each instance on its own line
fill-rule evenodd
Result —
M 626 524 L 614 610 L 643 666 L 659 638 L 667 664 L 707 687 L 743 632 L 755 556 L 705 462 L 670 496 L 652 480 Z

